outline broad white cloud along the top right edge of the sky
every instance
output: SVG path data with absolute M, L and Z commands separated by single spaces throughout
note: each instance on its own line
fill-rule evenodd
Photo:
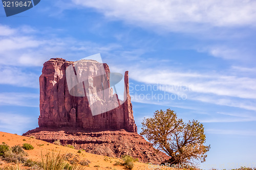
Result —
M 72 0 L 78 6 L 95 8 L 105 16 L 157 26 L 169 31 L 200 32 L 205 27 L 255 26 L 255 1 L 177 0 Z

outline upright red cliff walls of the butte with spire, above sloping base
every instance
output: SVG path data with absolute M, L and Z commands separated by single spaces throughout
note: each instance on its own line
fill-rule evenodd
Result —
M 72 90 L 69 91 L 66 69 L 70 65 L 76 67 L 74 70 L 78 79 L 83 72 L 87 72 L 87 76 L 91 78 L 90 80 L 93 80 L 83 82 L 83 85 L 90 90 L 93 98 L 87 98 L 84 91 L 80 91 L 80 96 L 74 96 Z M 106 77 L 104 80 L 98 80 L 102 72 Z M 124 129 L 127 132 L 137 133 L 129 94 L 128 71 L 124 74 L 124 101 L 119 100 L 113 89 L 110 88 L 109 75 L 110 68 L 108 64 L 102 64 L 94 60 L 82 60 L 79 64 L 76 64 L 76 62 L 53 58 L 45 62 L 39 78 L 39 127 L 71 127 L 88 131 Z M 100 87 L 97 86 L 97 84 L 100 84 L 98 81 L 101 81 L 100 83 L 106 89 L 104 93 L 100 92 Z M 114 103 L 113 101 L 116 100 L 119 102 Z M 109 106 L 113 106 L 114 109 L 109 108 Z M 97 113 L 102 110 L 108 111 L 101 114 L 93 114 L 92 108 Z

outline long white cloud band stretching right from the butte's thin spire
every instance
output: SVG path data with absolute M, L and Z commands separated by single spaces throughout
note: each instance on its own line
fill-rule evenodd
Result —
M 237 98 L 256 99 L 256 79 L 218 74 L 216 72 L 178 72 L 162 68 L 130 68 L 130 77 L 138 82 L 170 87 L 191 87 L 190 91 Z M 175 92 L 175 88 L 166 91 Z

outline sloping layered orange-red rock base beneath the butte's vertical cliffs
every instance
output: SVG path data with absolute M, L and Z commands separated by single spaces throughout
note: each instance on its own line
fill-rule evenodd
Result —
M 130 155 L 138 158 L 140 162 L 160 164 L 170 159 L 169 156 L 153 148 L 137 133 L 120 131 L 83 132 L 82 130 L 36 128 L 28 131 L 25 136 L 34 136 L 37 139 L 54 142 L 60 140 L 61 144 L 71 144 L 78 150 L 110 157 Z

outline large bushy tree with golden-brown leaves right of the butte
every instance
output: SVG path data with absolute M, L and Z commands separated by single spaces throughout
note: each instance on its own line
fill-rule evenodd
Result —
M 210 145 L 204 145 L 206 137 L 203 124 L 197 120 L 187 124 L 177 118 L 173 110 L 156 111 L 153 117 L 144 118 L 141 135 L 155 147 L 167 153 L 168 163 L 177 164 L 189 160 L 205 161 Z

